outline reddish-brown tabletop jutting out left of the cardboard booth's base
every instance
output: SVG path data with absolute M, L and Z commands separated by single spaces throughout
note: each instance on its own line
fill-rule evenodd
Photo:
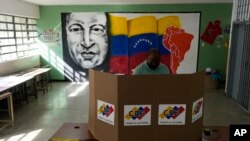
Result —
M 78 139 L 81 141 L 97 141 L 88 131 L 88 123 L 64 123 L 49 139 Z

